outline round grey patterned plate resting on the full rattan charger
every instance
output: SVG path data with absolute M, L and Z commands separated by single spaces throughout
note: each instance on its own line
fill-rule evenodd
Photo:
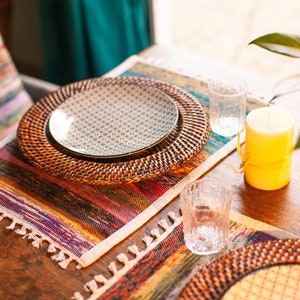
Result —
M 77 93 L 53 111 L 49 131 L 79 154 L 117 157 L 164 139 L 178 120 L 175 102 L 156 89 L 115 84 Z

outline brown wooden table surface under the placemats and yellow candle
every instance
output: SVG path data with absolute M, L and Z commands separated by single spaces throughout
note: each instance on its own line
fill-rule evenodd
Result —
M 200 70 L 210 62 L 181 50 L 153 46 L 140 54 L 142 57 L 154 57 L 173 66 L 184 66 L 189 70 Z M 250 76 L 251 77 L 251 76 Z M 256 77 L 257 84 L 263 81 Z M 266 85 L 270 82 L 265 81 Z M 285 102 L 293 110 L 298 122 L 300 109 L 297 101 Z M 299 122 L 300 123 L 300 122 Z M 260 191 L 248 186 L 241 174 L 232 171 L 229 164 L 239 165 L 236 152 L 217 164 L 209 174 L 224 178 L 232 185 L 232 209 L 246 216 L 263 221 L 300 236 L 300 150 L 294 152 L 291 182 L 277 191 Z M 83 284 L 96 274 L 108 274 L 107 265 L 116 254 L 124 251 L 133 243 L 141 243 L 141 237 L 149 234 L 153 224 L 161 219 L 166 211 L 177 206 L 175 200 L 158 216 L 150 220 L 124 242 L 113 248 L 99 261 L 86 269 L 78 271 L 74 265 L 60 269 L 49 258 L 46 246 L 34 249 L 15 232 L 6 230 L 8 220 L 0 222 L 0 299 L 70 299 L 74 291 L 82 292 Z M 85 297 L 88 297 L 86 293 Z

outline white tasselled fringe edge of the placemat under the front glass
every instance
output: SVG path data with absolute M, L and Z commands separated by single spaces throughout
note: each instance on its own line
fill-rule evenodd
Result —
M 150 231 L 150 235 L 146 235 L 142 238 L 145 244 L 145 249 L 140 250 L 137 245 L 133 244 L 129 246 L 128 251 L 135 255 L 133 259 L 129 259 L 125 253 L 117 255 L 116 260 L 123 266 L 118 269 L 115 261 L 108 264 L 108 270 L 112 273 L 110 278 L 106 278 L 103 274 L 95 275 L 94 279 L 84 284 L 84 290 L 91 293 L 89 300 L 97 299 L 113 284 L 115 284 L 122 276 L 124 276 L 142 257 L 147 255 L 153 250 L 161 241 L 163 241 L 173 230 L 181 223 L 181 216 L 176 216 L 174 211 L 168 213 L 168 219 L 161 219 L 158 221 L 158 227 L 153 228 Z M 82 300 L 84 299 L 80 292 L 75 292 L 72 299 Z

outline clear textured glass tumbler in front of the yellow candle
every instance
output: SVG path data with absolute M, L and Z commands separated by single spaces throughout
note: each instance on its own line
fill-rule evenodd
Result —
M 228 245 L 231 193 L 220 182 L 198 180 L 180 194 L 184 241 L 199 255 L 221 251 Z

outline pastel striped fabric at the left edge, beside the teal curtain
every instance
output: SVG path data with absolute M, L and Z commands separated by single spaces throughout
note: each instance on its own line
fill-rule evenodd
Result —
M 32 103 L 0 36 L 0 140 L 16 130 Z

